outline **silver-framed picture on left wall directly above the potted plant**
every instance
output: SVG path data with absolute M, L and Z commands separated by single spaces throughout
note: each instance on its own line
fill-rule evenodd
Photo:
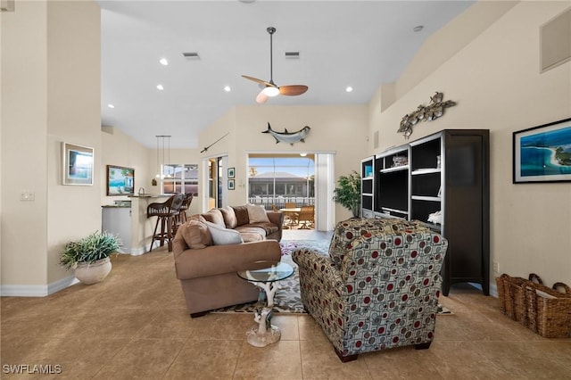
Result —
M 62 185 L 93 185 L 93 148 L 62 143 Z

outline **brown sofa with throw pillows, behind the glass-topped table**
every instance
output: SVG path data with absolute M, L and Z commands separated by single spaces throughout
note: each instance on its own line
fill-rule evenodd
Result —
M 178 227 L 173 240 L 173 256 L 186 307 L 193 318 L 203 316 L 209 310 L 256 301 L 259 288 L 238 277 L 236 272 L 249 268 L 253 261 L 281 259 L 278 240 L 281 239 L 283 213 L 267 211 L 269 223 L 250 223 L 247 211 L 244 215 L 242 207 L 245 210 L 245 206 L 226 207 L 225 211 L 213 209 L 192 216 Z M 222 228 L 220 215 L 225 227 L 227 222 L 230 227 L 236 226 Z M 213 244 L 212 226 L 209 227 L 207 222 L 220 229 L 236 231 L 244 243 Z

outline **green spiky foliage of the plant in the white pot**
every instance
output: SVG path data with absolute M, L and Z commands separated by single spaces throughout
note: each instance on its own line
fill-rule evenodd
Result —
M 96 231 L 78 241 L 65 244 L 60 254 L 60 264 L 66 269 L 74 268 L 78 263 L 91 264 L 118 252 L 121 245 L 119 236 Z

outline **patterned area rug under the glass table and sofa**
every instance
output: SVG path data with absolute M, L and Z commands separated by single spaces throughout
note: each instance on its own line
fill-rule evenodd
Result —
M 292 260 L 291 253 L 296 249 L 307 248 L 327 254 L 328 240 L 283 240 L 280 242 L 282 248 L 282 262 L 294 268 L 294 274 L 279 282 L 280 289 L 274 295 L 274 312 L 307 314 L 303 308 L 302 297 L 300 295 L 300 275 L 297 264 Z M 212 310 L 213 313 L 253 313 L 261 308 L 258 302 L 248 302 L 235 306 L 228 306 Z M 454 313 L 446 306 L 438 305 L 438 315 L 453 315 Z

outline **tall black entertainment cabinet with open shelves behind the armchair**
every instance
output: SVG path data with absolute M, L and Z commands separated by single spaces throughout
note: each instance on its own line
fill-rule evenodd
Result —
M 490 293 L 489 149 L 487 129 L 444 129 L 375 157 L 373 214 L 418 219 L 448 239 L 444 295 L 455 283 Z M 393 164 L 395 154 L 406 159 Z

